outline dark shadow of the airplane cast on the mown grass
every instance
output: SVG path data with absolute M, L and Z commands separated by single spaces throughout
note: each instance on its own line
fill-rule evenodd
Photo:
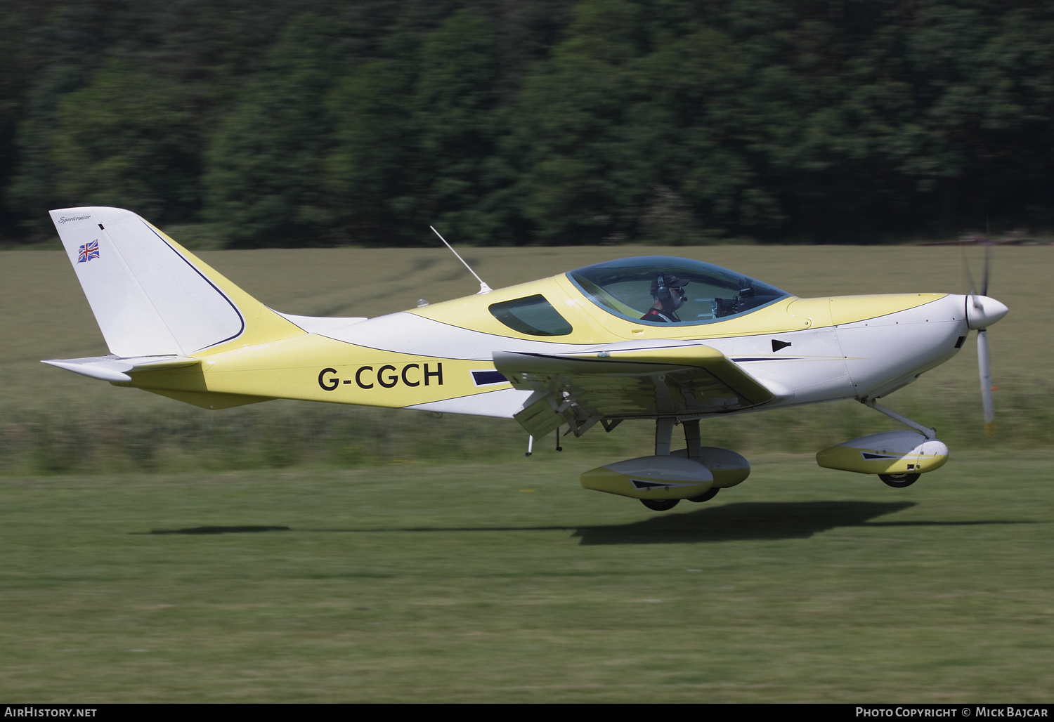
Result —
M 363 529 L 295 529 L 287 526 L 199 526 L 183 529 L 154 529 L 151 534 L 226 534 L 261 531 L 306 531 L 321 533 L 450 533 L 464 531 L 573 531 L 583 545 L 677 544 L 685 542 L 736 542 L 754 540 L 808 539 L 840 527 L 975 526 L 1023 524 L 1015 520 L 979 521 L 872 521 L 903 511 L 914 502 L 741 502 L 710 506 L 686 513 L 652 516 L 629 524 L 598 526 L 473 526 L 473 527 L 383 527 Z M 144 532 L 134 532 L 144 533 Z

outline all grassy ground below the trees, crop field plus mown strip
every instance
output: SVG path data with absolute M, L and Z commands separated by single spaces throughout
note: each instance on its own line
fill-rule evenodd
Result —
M 958 249 L 472 249 L 494 287 L 668 252 L 801 296 L 960 291 Z M 471 293 L 446 252 L 210 252 L 290 313 Z M 812 454 L 850 403 L 704 423 L 752 477 L 656 514 L 582 489 L 625 424 L 286 402 L 207 412 L 39 364 L 105 353 L 59 252 L 0 253 L 0 695 L 17 701 L 977 701 L 1054 691 L 1054 249 L 1000 248 L 990 332 L 885 403 L 952 461 L 894 490 Z M 979 265 L 975 259 L 975 274 Z M 486 443 L 481 440 L 485 440 Z M 272 528 L 261 527 L 288 527 Z M 155 533 L 156 532 L 156 533 Z

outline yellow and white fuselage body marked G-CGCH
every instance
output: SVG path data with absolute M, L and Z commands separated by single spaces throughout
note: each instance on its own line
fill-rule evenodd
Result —
M 875 398 L 955 355 L 968 332 L 967 298 L 784 295 L 728 318 L 646 324 L 594 303 L 561 274 L 369 319 L 286 316 L 296 329 L 288 337 L 225 343 L 191 354 L 200 371 L 148 372 L 128 385 L 510 417 L 530 393 L 495 371 L 494 352 L 698 343 L 776 393 L 754 410 Z M 544 320 L 543 304 L 564 324 Z M 508 313 L 518 308 L 534 316 L 521 324 Z M 555 327 L 540 333 L 532 323 Z

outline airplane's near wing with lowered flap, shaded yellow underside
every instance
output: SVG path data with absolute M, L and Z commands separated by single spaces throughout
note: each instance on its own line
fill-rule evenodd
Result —
M 623 418 L 739 411 L 777 397 L 723 353 L 699 344 L 613 344 L 587 353 L 493 356 L 514 388 L 534 392 L 515 414 L 534 436 L 563 424 L 582 435 L 600 421 L 608 426 Z

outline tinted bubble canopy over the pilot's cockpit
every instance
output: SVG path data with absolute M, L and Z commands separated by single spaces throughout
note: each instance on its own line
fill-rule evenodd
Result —
M 688 281 L 684 305 L 672 321 L 642 319 L 656 297 L 656 280 L 663 274 Z M 586 266 L 567 274 L 589 300 L 620 318 L 652 326 L 713 324 L 768 306 L 790 294 L 775 286 L 713 264 L 675 256 L 639 256 Z M 668 315 L 668 314 L 667 314 Z

